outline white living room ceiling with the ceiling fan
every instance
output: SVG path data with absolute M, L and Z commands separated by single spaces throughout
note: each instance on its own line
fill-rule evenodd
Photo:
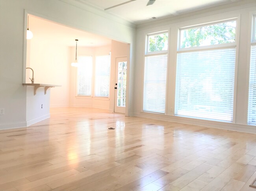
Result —
M 200 9 L 213 7 L 221 4 L 228 4 L 242 0 L 156 0 L 154 4 L 148 5 L 148 0 L 74 0 L 85 5 L 89 5 L 104 12 L 124 18 L 135 24 L 156 18 L 181 15 Z

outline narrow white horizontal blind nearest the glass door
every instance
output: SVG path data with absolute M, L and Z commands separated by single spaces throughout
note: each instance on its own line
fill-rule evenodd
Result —
M 167 54 L 146 56 L 143 111 L 165 113 Z

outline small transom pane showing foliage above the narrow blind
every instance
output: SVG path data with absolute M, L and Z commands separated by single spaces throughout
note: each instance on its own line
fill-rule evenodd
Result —
M 168 33 L 148 37 L 148 52 L 163 51 L 168 48 Z

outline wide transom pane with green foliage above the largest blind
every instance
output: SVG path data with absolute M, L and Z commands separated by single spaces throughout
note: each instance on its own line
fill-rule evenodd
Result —
M 181 31 L 181 48 L 235 42 L 236 21 L 207 25 Z

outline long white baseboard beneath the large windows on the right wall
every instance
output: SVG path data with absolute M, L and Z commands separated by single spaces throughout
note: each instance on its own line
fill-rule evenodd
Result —
M 154 113 L 147 113 L 147 112 L 134 113 L 134 116 L 256 134 L 255 126 L 249 126 L 249 125 L 243 125 L 243 124 L 217 122 L 217 121 L 186 118 L 181 116 L 154 114 Z

